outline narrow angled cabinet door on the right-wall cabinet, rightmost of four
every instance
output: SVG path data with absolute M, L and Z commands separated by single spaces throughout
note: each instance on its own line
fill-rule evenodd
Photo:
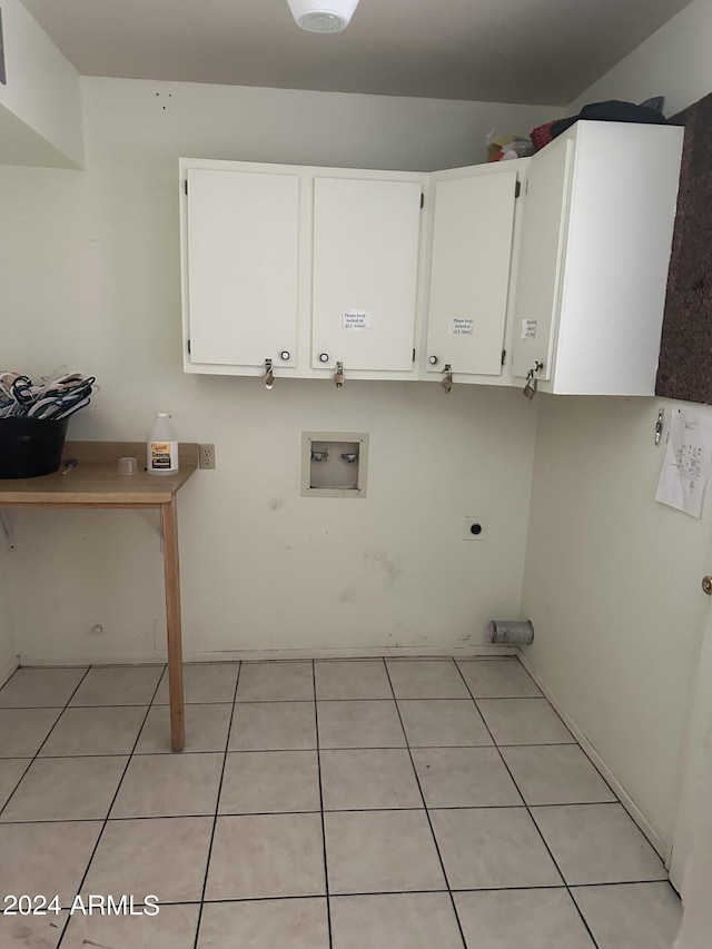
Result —
M 532 161 L 522 228 L 512 372 L 550 379 L 564 267 L 573 144 L 562 141 Z

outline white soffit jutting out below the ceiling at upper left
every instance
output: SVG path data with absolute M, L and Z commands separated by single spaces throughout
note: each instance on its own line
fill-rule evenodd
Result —
M 78 168 L 79 76 L 19 0 L 2 2 L 7 82 L 0 83 L 0 162 Z

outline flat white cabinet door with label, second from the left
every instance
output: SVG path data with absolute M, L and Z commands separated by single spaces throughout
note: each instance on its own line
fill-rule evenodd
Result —
M 421 185 L 316 178 L 314 367 L 413 368 Z

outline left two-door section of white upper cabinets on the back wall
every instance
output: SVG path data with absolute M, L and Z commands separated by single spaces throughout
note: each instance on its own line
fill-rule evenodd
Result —
M 186 372 L 417 376 L 427 175 L 202 159 L 180 171 Z

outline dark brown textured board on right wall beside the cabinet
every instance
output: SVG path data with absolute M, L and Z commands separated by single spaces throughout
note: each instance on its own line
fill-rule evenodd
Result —
M 712 95 L 685 126 L 655 393 L 712 404 Z

